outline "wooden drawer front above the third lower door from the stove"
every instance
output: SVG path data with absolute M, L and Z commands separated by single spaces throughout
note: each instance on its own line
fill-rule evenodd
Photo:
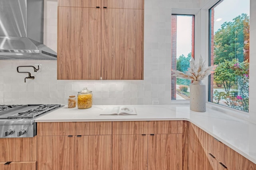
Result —
M 148 134 L 147 121 L 115 121 L 112 123 L 113 135 Z

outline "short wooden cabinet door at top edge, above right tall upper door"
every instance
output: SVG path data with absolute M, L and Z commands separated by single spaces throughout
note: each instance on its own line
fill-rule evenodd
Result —
M 102 0 L 107 8 L 144 9 L 144 0 Z

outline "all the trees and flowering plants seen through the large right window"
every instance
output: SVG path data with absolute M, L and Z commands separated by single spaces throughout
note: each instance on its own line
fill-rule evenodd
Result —
M 224 22 L 214 35 L 214 82 L 224 87 L 224 92 L 214 90 L 213 99 L 242 111 L 249 111 L 249 22 L 241 14 Z M 236 85 L 237 89 L 231 89 Z

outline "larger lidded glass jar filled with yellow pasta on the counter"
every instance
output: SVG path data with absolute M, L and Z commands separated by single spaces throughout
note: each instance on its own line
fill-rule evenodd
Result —
M 88 109 L 92 107 L 92 91 L 89 91 L 85 87 L 83 90 L 78 92 L 77 107 L 78 109 Z

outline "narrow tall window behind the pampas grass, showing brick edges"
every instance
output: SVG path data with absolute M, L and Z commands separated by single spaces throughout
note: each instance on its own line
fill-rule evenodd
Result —
M 172 14 L 172 70 L 185 72 L 194 58 L 194 15 Z M 188 100 L 190 80 L 172 77 L 172 100 Z

